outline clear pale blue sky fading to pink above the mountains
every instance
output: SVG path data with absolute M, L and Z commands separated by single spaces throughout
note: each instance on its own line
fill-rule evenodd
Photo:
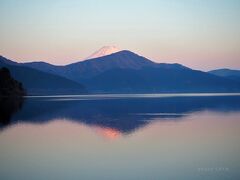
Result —
M 0 0 L 0 54 L 67 64 L 105 45 L 240 69 L 240 0 Z

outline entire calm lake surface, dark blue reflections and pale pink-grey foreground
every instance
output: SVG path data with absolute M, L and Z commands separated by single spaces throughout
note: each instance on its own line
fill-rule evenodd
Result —
M 240 179 L 240 95 L 28 97 L 0 105 L 0 179 Z

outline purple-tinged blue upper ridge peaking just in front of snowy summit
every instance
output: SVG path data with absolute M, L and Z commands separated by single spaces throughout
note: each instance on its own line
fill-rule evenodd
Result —
M 141 69 L 145 67 L 187 68 L 180 64 L 158 64 L 127 50 L 65 66 L 54 66 L 45 62 L 31 62 L 22 65 L 63 76 L 76 82 L 81 82 L 82 79 L 93 78 L 111 69 Z

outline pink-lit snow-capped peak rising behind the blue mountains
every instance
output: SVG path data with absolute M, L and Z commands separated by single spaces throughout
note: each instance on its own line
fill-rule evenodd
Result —
M 116 46 L 103 46 L 98 51 L 94 52 L 92 55 L 88 56 L 86 59 L 98 58 L 106 55 L 110 55 L 116 52 L 121 51 Z

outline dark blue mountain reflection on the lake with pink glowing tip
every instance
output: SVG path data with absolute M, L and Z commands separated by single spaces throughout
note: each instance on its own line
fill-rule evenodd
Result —
M 109 95 L 85 99 L 78 97 L 27 98 L 22 102 L 2 102 L 1 123 L 45 123 L 67 119 L 92 127 L 102 127 L 102 134 L 117 137 L 144 127 L 155 119 L 181 120 L 197 111 L 240 111 L 240 96 L 186 96 L 186 97 L 114 97 Z M 2 108 L 3 107 L 3 108 Z M 13 117 L 11 117 L 11 115 Z M 98 130 L 100 131 L 100 130 Z

